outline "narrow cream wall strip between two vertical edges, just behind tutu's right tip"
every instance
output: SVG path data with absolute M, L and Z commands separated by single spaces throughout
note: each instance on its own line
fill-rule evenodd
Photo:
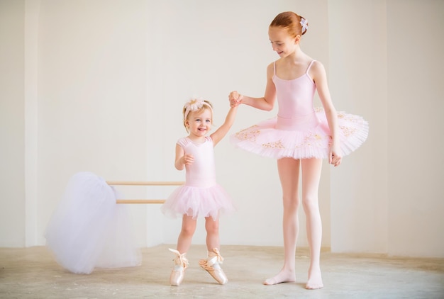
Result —
M 392 17 L 392 16 L 390 16 Z M 365 144 L 331 175 L 331 249 L 387 252 L 387 16 L 385 1 L 330 1 L 331 93 L 370 123 Z

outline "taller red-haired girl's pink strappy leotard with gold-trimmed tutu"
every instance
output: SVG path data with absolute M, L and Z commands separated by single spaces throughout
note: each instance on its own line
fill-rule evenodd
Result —
M 306 73 L 292 80 L 276 76 L 273 82 L 279 104 L 277 117 L 231 135 L 231 142 L 263 157 L 280 159 L 328 158 L 331 132 L 323 108 L 313 107 L 316 84 Z M 367 139 L 368 123 L 358 115 L 338 112 L 340 149 L 350 154 Z

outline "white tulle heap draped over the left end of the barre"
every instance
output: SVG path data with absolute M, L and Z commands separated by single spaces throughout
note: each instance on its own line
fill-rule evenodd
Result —
M 128 207 L 90 172 L 72 176 L 46 228 L 46 246 L 63 268 L 89 274 L 95 268 L 139 266 Z

